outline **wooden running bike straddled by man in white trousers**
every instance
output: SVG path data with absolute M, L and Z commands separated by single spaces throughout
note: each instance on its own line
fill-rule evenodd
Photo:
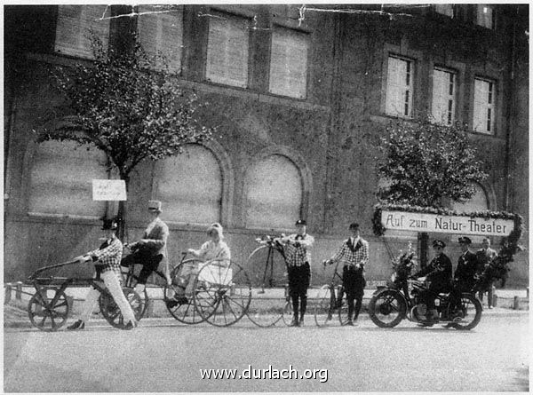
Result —
M 36 293 L 31 296 L 28 302 L 28 316 L 31 324 L 43 331 L 56 331 L 60 329 L 68 320 L 68 313 L 71 306 L 68 303 L 68 296 L 65 290 L 76 283 L 76 285 L 89 285 L 99 290 L 99 310 L 107 322 L 115 328 L 126 327 L 123 315 L 115 304 L 113 296 L 107 290 L 103 280 L 99 278 L 99 270 L 92 278 L 68 278 L 54 275 L 39 277 L 40 273 L 57 269 L 63 266 L 79 264 L 77 260 L 68 261 L 57 265 L 44 266 L 37 269 L 28 277 Z M 98 264 L 95 264 L 98 266 Z M 142 301 L 140 296 L 131 288 L 123 288 L 124 295 L 131 305 L 136 320 L 139 320 L 142 313 Z

